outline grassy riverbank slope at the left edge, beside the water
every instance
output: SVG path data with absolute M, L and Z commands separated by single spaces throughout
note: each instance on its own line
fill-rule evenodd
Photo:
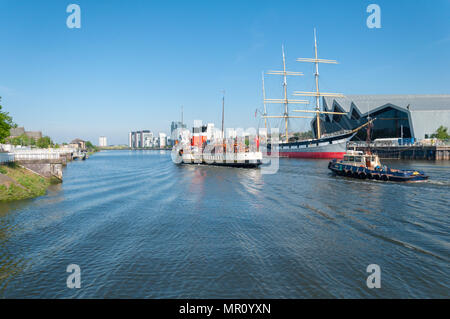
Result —
M 42 177 L 18 164 L 0 166 L 0 202 L 43 196 L 56 178 Z

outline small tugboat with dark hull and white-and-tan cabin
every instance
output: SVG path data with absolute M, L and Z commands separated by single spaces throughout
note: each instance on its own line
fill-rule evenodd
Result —
M 422 171 L 391 169 L 381 164 L 380 158 L 370 150 L 371 128 L 376 119 L 367 122 L 367 149 L 365 152 L 347 150 L 343 160 L 333 159 L 328 169 L 339 176 L 359 179 L 375 179 L 392 182 L 425 181 L 428 176 Z

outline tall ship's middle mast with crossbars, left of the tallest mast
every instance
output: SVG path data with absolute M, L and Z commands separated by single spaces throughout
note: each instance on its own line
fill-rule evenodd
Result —
M 289 119 L 290 118 L 311 118 L 310 116 L 290 116 L 289 115 L 289 104 L 308 104 L 309 102 L 306 100 L 290 100 L 287 97 L 287 76 L 301 76 L 302 72 L 291 72 L 286 71 L 286 56 L 284 54 L 284 47 L 282 47 L 283 54 L 283 71 L 269 71 L 267 74 L 271 75 L 282 75 L 283 76 L 283 89 L 284 89 L 284 98 L 283 99 L 266 99 L 264 98 L 264 106 L 266 103 L 274 103 L 274 104 L 284 104 L 284 114 L 282 116 L 268 116 L 266 110 L 264 110 L 264 118 L 281 118 L 284 119 L 285 123 L 285 132 L 286 132 L 286 143 L 289 142 Z M 265 97 L 265 91 L 264 91 Z

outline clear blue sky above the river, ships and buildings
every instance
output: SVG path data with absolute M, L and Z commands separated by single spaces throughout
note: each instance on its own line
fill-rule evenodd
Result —
M 68 29 L 66 7 L 81 7 L 81 29 Z M 366 26 L 369 4 L 381 29 Z M 184 118 L 226 126 L 261 125 L 261 72 L 281 67 L 313 88 L 313 54 L 324 91 L 351 94 L 449 94 L 450 1 L 106 1 L 0 0 L 0 96 L 16 123 L 57 142 L 80 137 L 127 143 L 130 130 L 169 131 Z M 281 79 L 266 78 L 267 97 Z M 270 113 L 281 106 L 272 105 Z M 277 125 L 277 123 L 273 123 Z M 292 120 L 294 129 L 308 127 Z

